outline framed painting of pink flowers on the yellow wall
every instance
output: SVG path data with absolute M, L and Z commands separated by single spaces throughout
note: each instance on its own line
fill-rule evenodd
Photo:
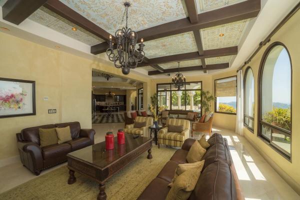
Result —
M 35 81 L 0 77 L 0 118 L 35 115 Z

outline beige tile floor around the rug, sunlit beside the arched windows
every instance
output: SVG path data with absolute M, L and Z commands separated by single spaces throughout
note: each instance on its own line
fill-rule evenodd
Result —
M 104 140 L 105 132 L 116 132 L 123 123 L 92 124 L 95 142 Z M 227 138 L 231 156 L 246 200 L 300 199 L 300 196 L 275 172 L 263 157 L 243 137 L 230 130 L 213 128 Z M 199 135 L 194 135 L 197 138 Z M 208 136 L 207 136 L 208 137 Z M 64 163 L 65 164 L 65 163 Z M 47 173 L 63 164 L 41 172 Z M 36 178 L 20 162 L 0 167 L 0 193 L 23 182 Z

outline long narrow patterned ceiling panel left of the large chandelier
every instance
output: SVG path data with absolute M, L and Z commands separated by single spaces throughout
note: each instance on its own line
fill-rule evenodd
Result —
M 78 27 L 74 23 L 68 21 L 65 18 L 62 18 L 58 14 L 50 11 L 45 7 L 41 7 L 33 12 L 29 16 L 29 19 L 42 25 L 48 26 L 51 29 L 54 29 L 88 45 L 94 45 L 104 41 L 103 39 L 97 37 L 96 35 L 88 32 L 81 27 Z M 76 27 L 77 30 L 73 31 L 71 29 L 72 27 Z

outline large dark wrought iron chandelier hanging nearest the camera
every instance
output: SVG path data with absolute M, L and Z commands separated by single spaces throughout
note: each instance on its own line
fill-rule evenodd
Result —
M 109 35 L 108 48 L 106 49 L 106 54 L 110 61 L 113 61 L 114 66 L 117 68 L 122 68 L 123 74 L 128 74 L 130 68 L 135 68 L 137 63 L 142 62 L 145 53 L 143 51 L 143 38 L 140 39 L 139 48 L 135 50 L 135 44 L 137 42 L 137 33 L 131 28 L 128 28 L 128 7 L 129 2 L 124 2 L 126 11 L 126 26 L 125 28 L 118 29 L 114 33 L 116 52 L 113 51 L 112 36 Z

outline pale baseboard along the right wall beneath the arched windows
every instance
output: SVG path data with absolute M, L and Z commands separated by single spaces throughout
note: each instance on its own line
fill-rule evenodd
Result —
M 248 142 L 257 150 L 257 152 L 266 160 L 266 162 L 273 167 L 273 169 L 282 177 L 282 179 L 293 189 L 297 194 L 300 195 L 300 184 L 292 179 L 283 169 L 281 169 L 266 153 L 262 152 L 259 147 L 252 143 L 252 140 L 246 135 L 244 137 Z

